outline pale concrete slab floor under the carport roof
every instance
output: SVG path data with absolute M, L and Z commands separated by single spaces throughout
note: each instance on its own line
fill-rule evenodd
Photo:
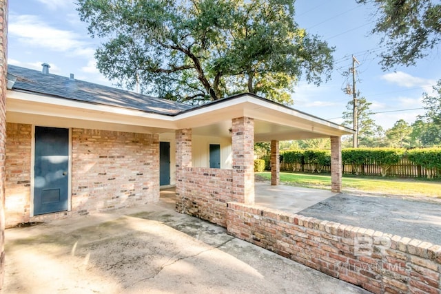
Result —
M 288 185 L 271 186 L 269 182 L 255 182 L 256 204 L 271 209 L 298 213 L 338 193 Z

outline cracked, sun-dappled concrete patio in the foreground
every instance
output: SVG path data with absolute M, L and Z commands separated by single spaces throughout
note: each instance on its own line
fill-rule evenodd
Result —
M 158 204 L 6 230 L 3 293 L 368 293 Z

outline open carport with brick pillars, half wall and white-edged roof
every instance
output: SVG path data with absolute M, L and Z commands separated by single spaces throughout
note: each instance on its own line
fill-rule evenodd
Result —
M 277 186 L 280 182 L 280 140 L 330 138 L 331 191 L 338 193 L 342 189 L 340 138 L 353 134 L 353 130 L 347 127 L 254 94 L 239 94 L 214 101 L 189 109 L 178 118 L 175 132 L 178 212 L 227 227 L 229 202 L 258 204 L 254 183 L 256 142 L 271 143 L 271 185 Z M 229 162 L 224 162 L 220 168 L 198 165 L 200 154 L 192 145 L 197 145 L 203 136 L 229 140 Z M 270 194 L 276 196 L 279 192 Z

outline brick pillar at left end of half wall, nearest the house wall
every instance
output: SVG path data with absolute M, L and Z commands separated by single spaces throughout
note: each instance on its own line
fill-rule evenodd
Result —
M 185 204 L 185 168 L 192 167 L 192 129 L 176 130 L 176 211 L 183 213 Z

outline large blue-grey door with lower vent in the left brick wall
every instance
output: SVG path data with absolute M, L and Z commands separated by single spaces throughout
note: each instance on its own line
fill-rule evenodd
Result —
M 35 127 L 34 215 L 68 210 L 69 129 Z

